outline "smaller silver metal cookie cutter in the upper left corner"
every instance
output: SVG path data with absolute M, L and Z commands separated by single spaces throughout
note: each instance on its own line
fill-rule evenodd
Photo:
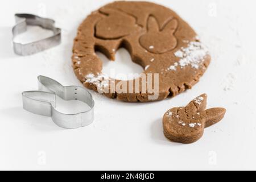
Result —
M 61 29 L 54 26 L 55 21 L 32 14 L 15 14 L 16 25 L 13 27 L 13 47 L 17 55 L 27 56 L 57 46 L 61 42 Z M 53 35 L 42 40 L 22 44 L 15 43 L 16 35 L 27 31 L 27 25 L 40 26 L 52 30 Z

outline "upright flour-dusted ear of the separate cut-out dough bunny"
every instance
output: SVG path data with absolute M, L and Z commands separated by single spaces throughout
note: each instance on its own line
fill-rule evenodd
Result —
M 207 94 L 201 94 L 201 96 L 193 99 L 187 106 L 185 110 L 187 113 L 196 113 L 204 111 L 207 106 Z

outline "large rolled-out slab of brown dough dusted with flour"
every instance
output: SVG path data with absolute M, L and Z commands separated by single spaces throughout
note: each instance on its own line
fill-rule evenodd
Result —
M 101 72 L 102 62 L 95 52 L 100 51 L 114 60 L 115 52 L 121 47 L 144 68 L 146 80 L 150 73 L 159 74 L 159 80 L 152 81 L 159 85 L 158 97 L 154 100 L 174 97 L 191 89 L 210 63 L 207 48 L 174 11 L 150 2 L 118 1 L 94 11 L 80 24 L 72 56 L 76 76 L 87 88 L 110 98 L 154 101 L 149 97 L 155 90 L 146 88 L 143 92 L 141 78 L 129 84 Z M 139 82 L 138 89 L 135 81 Z M 113 83 L 119 84 L 120 89 L 111 88 Z

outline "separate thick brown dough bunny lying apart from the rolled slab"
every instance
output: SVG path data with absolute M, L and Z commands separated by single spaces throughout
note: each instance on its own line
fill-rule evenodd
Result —
M 221 121 L 226 110 L 212 108 L 205 110 L 207 95 L 203 94 L 185 107 L 168 110 L 163 117 L 163 131 L 172 142 L 193 143 L 199 140 L 206 127 Z

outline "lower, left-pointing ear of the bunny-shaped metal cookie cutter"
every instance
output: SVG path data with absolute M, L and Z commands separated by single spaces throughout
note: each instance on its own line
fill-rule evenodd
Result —
M 22 93 L 23 109 L 39 115 L 52 116 L 56 95 L 49 92 L 28 91 Z

